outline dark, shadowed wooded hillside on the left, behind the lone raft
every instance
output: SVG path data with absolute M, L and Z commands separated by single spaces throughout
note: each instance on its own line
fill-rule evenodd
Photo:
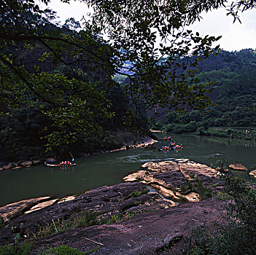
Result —
M 47 10 L 46 17 L 53 20 L 55 12 Z M 8 24 L 11 20 L 7 17 L 3 22 Z M 48 19 L 38 21 L 32 12 L 20 12 L 18 22 L 26 23 L 28 29 L 37 24 L 36 29 L 41 32 L 55 31 L 79 38 L 74 30 L 79 23 L 72 18 L 57 26 Z M 85 33 L 91 44 L 107 47 L 98 37 Z M 39 95 L 26 86 L 20 93 L 20 82 L 1 64 L 0 160 L 38 159 L 45 157 L 47 151 L 48 155 L 61 156 L 69 151 L 76 154 L 116 149 L 123 144 L 120 130 L 132 126 L 134 132 L 137 127 L 147 132 L 145 107 L 125 96 L 112 79 L 112 69 L 86 62 L 73 66 L 53 63 L 49 47 L 42 43 L 34 43 L 33 47 L 23 42 L 13 44 L 1 48 L 1 54 L 12 56 L 38 82 L 48 82 L 39 87 Z M 15 103 L 10 105 L 9 101 Z

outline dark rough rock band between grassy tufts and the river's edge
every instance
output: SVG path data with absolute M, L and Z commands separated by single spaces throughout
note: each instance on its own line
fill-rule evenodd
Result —
M 144 205 L 150 209 L 158 200 L 158 195 L 148 194 L 149 189 L 139 182 L 117 184 L 111 187 L 100 187 L 78 195 L 72 200 L 63 203 L 54 203 L 45 208 L 24 214 L 23 210 L 12 219 L 12 227 L 20 227 L 23 223 L 23 232 L 37 232 L 39 226 L 47 226 L 53 221 L 71 219 L 81 215 L 85 211 L 104 215 L 110 213 L 122 213 L 130 208 L 136 210 L 138 205 Z M 38 202 L 38 201 L 37 201 Z M 169 201 L 161 201 L 166 207 L 173 206 Z M 42 204 L 41 204 L 42 205 Z M 10 205 L 7 205 L 10 206 Z M 27 211 L 32 207 L 30 205 Z M 153 208 L 157 209 L 156 206 Z M 3 209 L 2 209 L 3 210 Z M 13 233 L 10 228 L 0 229 L 0 243 L 12 240 Z

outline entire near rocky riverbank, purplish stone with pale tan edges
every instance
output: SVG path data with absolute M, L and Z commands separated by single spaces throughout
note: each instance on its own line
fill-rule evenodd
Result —
M 225 213 L 215 198 L 222 190 L 217 170 L 184 159 L 142 167 L 112 187 L 1 207 L 2 249 L 16 243 L 30 254 L 181 254 L 194 227 Z

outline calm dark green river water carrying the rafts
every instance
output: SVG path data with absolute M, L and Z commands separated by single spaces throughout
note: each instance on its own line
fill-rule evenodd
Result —
M 158 136 L 160 141 L 155 144 L 156 147 L 169 144 L 161 139 L 163 133 Z M 256 144 L 251 141 L 187 135 L 174 135 L 172 140 L 183 145 L 182 151 L 171 150 L 164 153 L 137 148 L 77 158 L 76 167 L 47 168 L 38 165 L 33 168 L 2 170 L 0 171 L 0 206 L 33 197 L 47 195 L 63 197 L 104 185 L 118 184 L 123 181 L 123 176 L 139 170 L 140 165 L 147 161 L 187 158 L 210 165 L 216 160 L 225 158 L 228 164 L 240 161 L 247 168 L 256 165 Z M 236 172 L 236 174 L 249 178 L 247 173 Z

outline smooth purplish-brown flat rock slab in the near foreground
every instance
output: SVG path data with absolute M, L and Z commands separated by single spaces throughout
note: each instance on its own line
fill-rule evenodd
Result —
M 222 201 L 205 200 L 175 208 L 143 213 L 116 224 L 73 229 L 42 238 L 31 254 L 51 246 L 71 246 L 86 252 L 98 246 L 93 254 L 157 254 L 174 238 L 185 239 L 198 224 L 218 220 L 223 213 Z M 97 243 L 94 243 L 97 242 Z M 181 254 L 181 251 L 176 251 Z

